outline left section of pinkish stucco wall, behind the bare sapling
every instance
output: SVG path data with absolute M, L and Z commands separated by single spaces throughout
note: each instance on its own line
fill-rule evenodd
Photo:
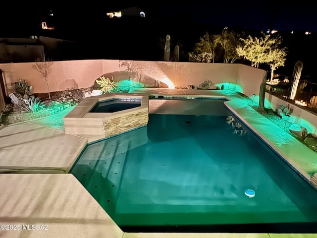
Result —
M 7 96 L 14 92 L 14 82 L 19 79 L 27 81 L 34 93 L 48 92 L 45 80 L 32 67 L 33 64 L 35 62 L 0 64 Z M 48 77 L 50 91 L 91 87 L 95 79 L 103 74 L 102 64 L 102 60 L 53 61 Z

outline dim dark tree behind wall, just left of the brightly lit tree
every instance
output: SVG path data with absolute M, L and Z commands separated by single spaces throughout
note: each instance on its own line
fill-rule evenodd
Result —
M 224 29 L 221 34 L 213 35 L 216 45 L 220 45 L 223 50 L 223 62 L 233 63 L 241 59 L 237 53 L 237 48 L 241 46 L 240 38 L 243 38 L 243 33 L 236 33 Z

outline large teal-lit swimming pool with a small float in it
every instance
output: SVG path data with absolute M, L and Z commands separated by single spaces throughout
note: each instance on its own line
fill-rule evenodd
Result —
M 223 102 L 157 103 L 191 106 L 88 145 L 71 170 L 123 231 L 317 232 L 316 189 Z

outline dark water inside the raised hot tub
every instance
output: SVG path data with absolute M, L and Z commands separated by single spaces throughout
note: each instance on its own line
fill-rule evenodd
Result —
M 126 101 L 122 99 L 111 99 L 98 102 L 92 110 L 90 110 L 90 113 L 114 113 L 140 106 L 141 100 Z

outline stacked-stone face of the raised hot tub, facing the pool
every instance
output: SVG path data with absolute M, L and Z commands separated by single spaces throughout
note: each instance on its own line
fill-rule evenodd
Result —
M 103 123 L 105 137 L 120 134 L 133 128 L 147 125 L 149 121 L 149 111 L 131 113 L 126 116 L 108 119 Z

